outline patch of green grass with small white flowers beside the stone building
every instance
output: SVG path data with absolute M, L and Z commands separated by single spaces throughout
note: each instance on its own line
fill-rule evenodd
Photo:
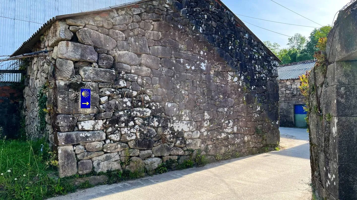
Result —
M 0 199 L 36 200 L 60 193 L 59 184 L 47 176 L 55 172 L 46 164 L 51 159 L 47 149 L 41 141 L 0 141 Z

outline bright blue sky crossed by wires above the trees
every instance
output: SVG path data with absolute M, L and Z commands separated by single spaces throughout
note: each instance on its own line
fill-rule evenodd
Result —
M 298 14 L 326 26 L 331 25 L 336 12 L 342 9 L 350 0 L 274 0 L 288 9 Z M 239 15 L 255 17 L 270 21 L 291 23 L 304 26 L 321 27 L 320 25 L 309 21 L 290 10 L 274 3 L 271 0 L 222 0 L 232 12 Z M 308 37 L 314 28 L 292 26 L 275 22 L 252 19 L 249 17 L 239 16 L 239 19 L 249 22 L 253 25 L 266 28 L 271 31 L 293 36 L 295 33 Z M 337 17 L 337 15 L 336 15 Z M 336 20 L 335 17 L 335 20 Z M 245 23 L 244 22 L 244 23 Z M 288 43 L 287 36 L 279 35 L 251 24 L 245 25 L 261 40 L 276 42 L 281 48 L 286 48 Z

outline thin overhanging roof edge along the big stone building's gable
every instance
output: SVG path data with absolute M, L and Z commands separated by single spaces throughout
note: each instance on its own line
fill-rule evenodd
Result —
M 24 53 L 32 52 L 31 49 L 32 49 L 32 47 L 34 47 L 34 44 L 39 40 L 41 35 L 48 28 L 51 27 L 51 24 L 56 20 L 66 19 L 68 17 L 87 15 L 87 14 L 91 14 L 91 13 L 106 11 L 106 10 L 110 10 L 110 9 L 120 8 L 120 7 L 126 7 L 126 6 L 130 6 L 130 5 L 138 4 L 141 2 L 145 2 L 145 1 L 149 1 L 149 0 L 135 0 L 135 1 L 126 2 L 124 4 L 120 4 L 120 5 L 116 5 L 116 6 L 109 6 L 109 7 L 103 8 L 103 9 L 92 10 L 92 11 L 87 11 L 87 12 L 78 12 L 78 13 L 68 14 L 68 15 L 59 15 L 59 16 L 53 17 L 52 19 L 47 21 L 44 25 L 42 25 L 41 28 L 39 28 L 39 30 L 37 30 L 37 32 L 35 32 L 27 41 L 22 43 L 21 47 L 19 47 L 14 53 L 11 54 L 11 57 L 18 56 L 18 55 L 21 55 Z M 225 4 L 223 4 L 223 2 L 221 0 L 216 0 L 216 1 L 218 1 L 222 6 L 226 7 L 226 9 L 228 11 L 230 11 L 235 16 L 235 20 L 238 22 L 238 24 L 241 25 L 250 35 L 252 35 L 256 41 L 260 42 L 262 44 L 262 46 L 265 47 L 265 49 L 268 51 L 268 54 L 273 56 L 278 62 L 281 62 L 281 60 L 237 17 L 237 15 L 235 15 Z

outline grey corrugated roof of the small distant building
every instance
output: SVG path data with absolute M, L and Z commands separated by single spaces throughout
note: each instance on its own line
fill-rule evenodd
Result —
M 315 60 L 305 60 L 298 63 L 283 64 L 278 67 L 278 79 L 298 79 L 315 66 Z

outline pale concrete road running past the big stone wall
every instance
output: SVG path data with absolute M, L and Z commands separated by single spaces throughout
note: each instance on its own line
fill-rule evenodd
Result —
M 280 128 L 282 151 L 101 185 L 51 200 L 310 200 L 306 129 Z

